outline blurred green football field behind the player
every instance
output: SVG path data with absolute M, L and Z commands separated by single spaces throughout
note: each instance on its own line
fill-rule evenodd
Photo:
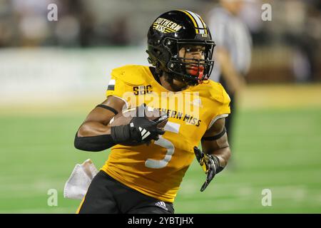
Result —
M 205 175 L 194 160 L 176 213 L 321 212 L 321 106 L 248 107 L 236 115 L 230 166 L 200 192 Z M 0 213 L 76 212 L 80 201 L 63 198 L 73 167 L 87 158 L 101 167 L 108 157 L 73 147 L 87 111 L 1 110 Z M 51 189 L 58 191 L 53 207 L 47 204 Z M 272 192 L 272 205 L 263 207 L 265 189 Z

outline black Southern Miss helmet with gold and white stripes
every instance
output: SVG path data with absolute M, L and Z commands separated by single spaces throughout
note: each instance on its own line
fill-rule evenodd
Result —
M 205 59 L 184 58 L 178 55 L 183 46 L 205 47 Z M 148 62 L 156 71 L 170 78 L 195 86 L 208 80 L 212 72 L 215 42 L 203 19 L 191 11 L 174 10 L 159 16 L 148 31 Z M 186 66 L 196 71 L 188 73 Z

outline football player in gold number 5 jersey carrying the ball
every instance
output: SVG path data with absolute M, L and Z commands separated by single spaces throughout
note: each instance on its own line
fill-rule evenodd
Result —
M 111 147 L 78 213 L 173 213 L 180 182 L 195 156 L 206 173 L 201 191 L 223 170 L 230 157 L 224 127 L 230 98 L 220 83 L 209 80 L 214 46 L 198 14 L 168 11 L 148 31 L 146 52 L 153 66 L 130 65 L 111 72 L 106 100 L 88 114 L 76 133 L 79 150 Z M 164 93 L 170 95 L 164 98 Z M 192 93 L 197 98 L 186 100 Z M 139 103 L 128 94 L 139 97 Z M 108 125 L 123 107 L 148 103 L 151 94 L 169 101 L 182 95 L 183 100 L 172 107 L 153 103 L 153 108 L 168 115 L 165 128 L 158 128 L 144 115 L 133 117 L 127 125 Z M 188 113 L 187 106 L 198 108 L 198 115 Z M 149 134 L 144 135 L 142 129 Z M 198 149 L 199 142 L 203 151 Z

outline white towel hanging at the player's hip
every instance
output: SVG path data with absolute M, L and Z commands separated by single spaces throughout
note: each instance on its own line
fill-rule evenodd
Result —
M 93 180 L 97 173 L 98 170 L 90 159 L 87 159 L 81 165 L 76 164 L 63 189 L 63 197 L 83 199 L 91 184 L 91 180 Z

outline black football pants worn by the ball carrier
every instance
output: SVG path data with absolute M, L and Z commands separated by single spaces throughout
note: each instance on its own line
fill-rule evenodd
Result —
M 102 170 L 93 178 L 79 214 L 173 214 L 173 203 L 148 197 L 113 179 Z

